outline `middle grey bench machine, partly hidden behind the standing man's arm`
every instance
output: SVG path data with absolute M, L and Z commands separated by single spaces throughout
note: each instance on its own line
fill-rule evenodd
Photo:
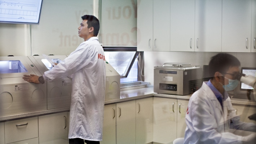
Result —
M 66 55 L 48 55 L 54 63 L 60 63 L 67 58 Z M 43 55 L 28 56 L 41 75 L 53 68 L 52 64 Z M 70 107 L 72 78 L 65 77 L 61 80 L 47 81 L 47 109 Z

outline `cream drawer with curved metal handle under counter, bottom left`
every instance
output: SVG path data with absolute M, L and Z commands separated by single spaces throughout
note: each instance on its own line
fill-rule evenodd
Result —
M 5 143 L 13 143 L 38 137 L 38 118 L 25 118 L 4 122 Z

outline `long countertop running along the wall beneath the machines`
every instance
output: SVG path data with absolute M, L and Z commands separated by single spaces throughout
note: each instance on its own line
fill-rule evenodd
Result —
M 138 89 L 121 89 L 120 91 L 120 99 L 108 100 L 105 101 L 105 105 L 126 102 L 130 100 L 144 99 L 150 97 L 160 97 L 160 98 L 175 98 L 175 99 L 190 99 L 191 95 L 170 95 L 170 94 L 158 94 L 154 93 L 154 89 L 152 87 L 142 87 Z M 232 104 L 238 105 L 251 105 L 256 107 L 256 102 L 248 99 L 233 99 L 231 98 Z M 0 117 L 0 122 L 17 120 L 28 117 L 42 116 L 46 114 L 53 114 L 59 112 L 68 112 L 70 107 L 65 108 L 57 108 L 57 109 L 49 109 L 44 111 L 30 112 L 30 113 L 22 113 L 22 114 L 14 114 L 10 116 Z

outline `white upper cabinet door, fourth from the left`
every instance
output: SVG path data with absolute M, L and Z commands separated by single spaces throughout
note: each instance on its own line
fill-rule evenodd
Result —
M 195 51 L 221 51 L 222 0 L 195 0 Z

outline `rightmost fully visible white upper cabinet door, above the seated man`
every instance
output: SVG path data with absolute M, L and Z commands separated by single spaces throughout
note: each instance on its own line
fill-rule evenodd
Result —
M 222 0 L 222 51 L 251 52 L 252 0 Z

